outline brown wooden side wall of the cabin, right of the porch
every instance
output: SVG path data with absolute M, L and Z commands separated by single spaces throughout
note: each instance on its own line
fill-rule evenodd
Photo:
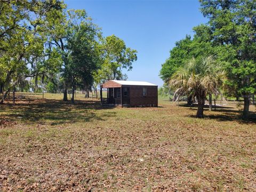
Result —
M 124 86 L 123 86 L 124 87 Z M 130 87 L 130 105 L 132 107 L 148 107 L 158 105 L 157 86 L 131 85 Z M 147 95 L 143 96 L 143 87 L 147 87 Z

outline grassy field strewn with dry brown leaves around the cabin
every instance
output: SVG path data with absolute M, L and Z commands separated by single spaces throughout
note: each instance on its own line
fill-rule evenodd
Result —
M 255 191 L 256 114 L 235 103 L 106 108 L 77 94 L 0 106 L 0 191 Z M 56 99 L 56 100 L 54 100 Z

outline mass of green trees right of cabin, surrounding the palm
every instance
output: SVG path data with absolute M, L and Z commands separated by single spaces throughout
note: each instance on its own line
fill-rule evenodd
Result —
M 175 44 L 170 51 L 170 57 L 162 65 L 160 76 L 171 89 L 177 90 L 178 87 L 186 89 L 180 92 L 180 95 L 193 95 L 198 91 L 199 86 L 204 86 L 203 78 L 201 81 L 197 80 L 198 76 L 205 74 L 206 68 L 202 63 L 211 57 L 216 68 L 220 67 L 225 71 L 225 77 L 222 77 L 218 87 L 217 84 L 211 88 L 205 87 L 205 95 L 201 95 L 202 98 L 197 95 L 196 98 L 202 101 L 206 99 L 207 94 L 210 96 L 220 93 L 226 97 L 236 97 L 237 100 L 243 97 L 243 118 L 247 119 L 250 98 L 254 100 L 256 93 L 256 2 L 251 0 L 200 0 L 199 2 L 201 12 L 209 22 L 194 27 L 193 38 L 187 35 Z M 194 64 L 191 64 L 193 62 Z M 193 66 L 194 70 L 191 69 Z M 198 85 L 197 88 L 196 85 L 189 86 L 191 81 L 181 74 L 181 68 L 188 70 L 188 67 L 191 67 L 191 71 L 186 71 L 190 73 L 187 74 L 190 80 L 198 77 L 197 80 L 193 79 Z M 211 73 L 217 73 L 214 69 L 211 71 L 206 76 L 211 77 Z M 186 73 L 184 72 L 183 75 Z M 185 87 L 182 81 L 180 84 L 174 83 L 174 79 L 189 81 L 186 80 L 188 84 Z M 201 103 L 204 104 L 204 101 Z M 198 117 L 202 116 L 203 114 L 198 115 Z

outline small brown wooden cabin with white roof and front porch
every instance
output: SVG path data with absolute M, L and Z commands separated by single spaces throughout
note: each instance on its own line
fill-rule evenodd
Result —
M 102 97 L 102 88 L 107 97 Z M 157 85 L 148 82 L 109 80 L 100 86 L 102 105 L 122 107 L 157 107 Z

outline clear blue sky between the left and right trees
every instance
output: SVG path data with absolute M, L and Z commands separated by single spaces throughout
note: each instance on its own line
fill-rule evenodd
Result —
M 130 81 L 163 85 L 159 78 L 162 63 L 169 57 L 175 42 L 192 28 L 207 20 L 199 11 L 198 1 L 76 1 L 66 0 L 68 9 L 85 9 L 103 36 L 115 34 L 127 47 L 138 51 L 138 60 Z

